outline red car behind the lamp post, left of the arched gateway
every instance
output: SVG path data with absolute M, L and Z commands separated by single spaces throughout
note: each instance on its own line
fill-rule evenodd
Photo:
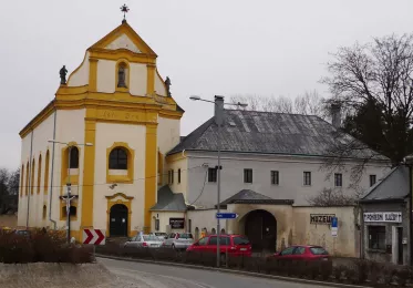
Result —
M 190 245 L 187 251 L 217 253 L 217 235 L 208 235 Z M 251 244 L 242 235 L 219 235 L 219 250 L 223 256 L 251 256 Z

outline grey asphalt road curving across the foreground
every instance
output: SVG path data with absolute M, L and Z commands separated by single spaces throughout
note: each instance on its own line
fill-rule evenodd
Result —
M 131 263 L 99 258 L 109 270 L 123 281 L 140 288 L 321 288 L 299 282 L 279 281 L 266 278 L 241 276 L 219 271 L 189 269 L 183 267 Z M 126 286 L 125 286 L 126 287 Z

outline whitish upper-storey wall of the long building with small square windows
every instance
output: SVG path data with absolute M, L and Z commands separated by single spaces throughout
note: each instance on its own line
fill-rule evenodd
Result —
M 188 152 L 188 166 L 198 167 L 208 163 L 209 167 L 217 165 L 216 154 Z M 308 198 L 318 195 L 324 187 L 334 187 L 334 177 L 326 181 L 327 173 L 320 171 L 322 162 L 316 158 L 271 155 L 228 155 L 221 157 L 221 200 L 241 189 L 252 189 L 275 199 L 293 199 L 295 205 L 308 205 Z M 244 183 L 244 169 L 252 168 L 252 184 Z M 343 174 L 343 193 L 352 195 L 350 168 Z M 188 202 L 194 202 L 202 189 L 207 168 L 188 169 Z M 271 185 L 270 171 L 279 171 L 279 185 Z M 369 187 L 369 174 L 376 174 L 378 179 L 388 171 L 383 166 L 368 166 L 360 185 Z M 311 186 L 303 185 L 303 172 L 311 172 Z M 217 184 L 206 183 L 203 195 L 196 202 L 198 206 L 211 207 L 216 204 Z M 211 196 L 214 195 L 214 197 Z

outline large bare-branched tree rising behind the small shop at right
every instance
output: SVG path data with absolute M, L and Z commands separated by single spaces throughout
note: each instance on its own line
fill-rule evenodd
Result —
M 393 34 L 341 48 L 327 68 L 330 76 L 321 82 L 348 111 L 327 166 L 335 168 L 354 155 L 360 160 L 354 175 L 381 155 L 399 165 L 413 152 L 413 35 Z

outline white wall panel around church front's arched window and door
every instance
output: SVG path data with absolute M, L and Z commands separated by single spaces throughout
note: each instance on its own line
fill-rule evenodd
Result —
M 106 229 L 107 199 L 116 193 L 133 196 L 131 230 L 141 230 L 144 226 L 145 203 L 145 144 L 146 127 L 144 125 L 123 125 L 111 123 L 96 124 L 95 138 L 95 175 L 94 175 L 94 202 L 93 202 L 93 226 L 97 229 Z M 135 151 L 134 183 L 121 184 L 111 189 L 106 184 L 106 148 L 114 142 L 126 142 Z

